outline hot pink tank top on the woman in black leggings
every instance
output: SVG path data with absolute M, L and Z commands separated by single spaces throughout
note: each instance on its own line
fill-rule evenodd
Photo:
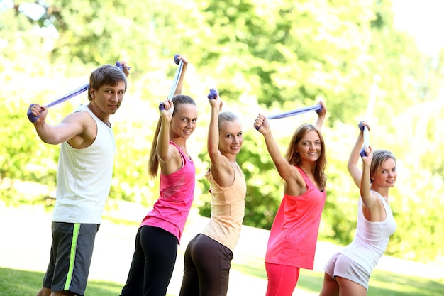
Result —
M 179 150 L 184 165 L 170 175 L 160 174 L 160 197 L 140 226 L 160 227 L 174 234 L 177 237 L 177 243 L 180 243 L 194 198 L 196 168 L 193 161 L 187 158 L 179 146 L 172 141 L 170 144 Z

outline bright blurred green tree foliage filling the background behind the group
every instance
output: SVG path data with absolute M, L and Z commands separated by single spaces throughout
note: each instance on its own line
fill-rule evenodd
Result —
M 209 165 L 205 95 L 214 82 L 224 109 L 242 115 L 245 140 L 238 162 L 248 182 L 244 224 L 265 229 L 270 229 L 282 199 L 282 182 L 252 121 L 257 113 L 324 99 L 328 197 L 320 235 L 348 243 L 359 191 L 346 163 L 373 76 L 379 74 L 372 146 L 392 150 L 399 170 L 391 193 L 398 230 L 387 252 L 423 261 L 443 258 L 443 65 L 418 53 L 414 40 L 396 31 L 390 1 L 47 3 L 47 15 L 38 21 L 14 9 L 0 11 L 0 79 L 6 86 L 0 94 L 5 106 L 0 177 L 9 199 L 20 200 L 6 180 L 39 182 L 48 185 L 48 192 L 55 187 L 58 147 L 35 135 L 25 115 L 28 104 L 50 102 L 79 87 L 98 65 L 127 60 L 132 67 L 128 92 L 112 118 L 118 153 L 110 197 L 150 207 L 158 196 L 158 180 L 149 180 L 146 170 L 156 106 L 170 91 L 176 69 L 172 56 L 183 53 L 191 62 L 183 92 L 199 106 L 198 128 L 187 148 L 197 155 L 195 204 L 201 214 L 208 216 L 210 210 L 203 177 Z M 58 38 L 41 29 L 50 24 Z M 443 56 L 441 51 L 439 58 Z M 48 121 L 57 124 L 86 103 L 82 94 L 52 107 Z M 273 121 L 282 153 L 296 126 L 313 121 L 312 115 Z

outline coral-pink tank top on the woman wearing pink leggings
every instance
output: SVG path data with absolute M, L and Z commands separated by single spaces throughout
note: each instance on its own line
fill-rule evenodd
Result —
M 319 191 L 305 172 L 296 168 L 307 190 L 299 196 L 284 194 L 270 231 L 265 262 L 313 269 L 326 192 Z

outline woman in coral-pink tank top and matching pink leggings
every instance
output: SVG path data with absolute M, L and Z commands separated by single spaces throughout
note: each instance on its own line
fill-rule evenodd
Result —
M 327 109 L 320 102 L 316 126 L 303 124 L 294 132 L 282 156 L 262 114 L 255 128 L 262 133 L 277 172 L 284 180 L 284 199 L 274 218 L 267 253 L 266 296 L 291 296 L 299 268 L 313 269 L 321 213 L 326 202 L 326 153 L 320 132 Z

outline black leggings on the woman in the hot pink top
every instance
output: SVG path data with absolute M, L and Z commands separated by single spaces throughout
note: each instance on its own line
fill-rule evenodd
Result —
M 121 296 L 165 296 L 176 256 L 176 236 L 157 227 L 140 227 L 135 236 L 133 262 Z

